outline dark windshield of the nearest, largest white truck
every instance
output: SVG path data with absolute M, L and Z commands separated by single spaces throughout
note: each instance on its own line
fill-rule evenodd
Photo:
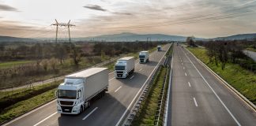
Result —
M 75 99 L 77 98 L 77 91 L 58 90 L 58 98 Z

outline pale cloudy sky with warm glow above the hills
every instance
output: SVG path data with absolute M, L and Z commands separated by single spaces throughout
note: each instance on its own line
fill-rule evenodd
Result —
M 0 35 L 71 37 L 132 32 L 214 38 L 256 32 L 256 0 L 0 0 Z M 66 27 L 58 37 L 67 38 Z

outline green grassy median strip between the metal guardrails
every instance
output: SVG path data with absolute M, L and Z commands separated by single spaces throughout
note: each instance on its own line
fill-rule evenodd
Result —
M 149 95 L 134 118 L 132 125 L 154 125 L 158 98 L 161 88 L 163 87 L 164 76 L 167 70 L 167 68 L 162 67 L 160 71 L 156 73 L 156 78 L 153 80 L 152 86 L 149 89 Z

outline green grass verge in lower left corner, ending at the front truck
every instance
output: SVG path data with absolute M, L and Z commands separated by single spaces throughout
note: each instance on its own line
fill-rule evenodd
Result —
M 37 106 L 51 101 L 53 98 L 55 98 L 55 91 L 56 89 L 52 89 L 51 91 L 44 92 L 41 95 L 36 95 L 33 98 L 29 98 L 22 102 L 17 102 L 13 106 L 9 106 L 0 114 L 0 123 L 12 119 L 13 117 L 17 117 L 31 109 L 36 108 Z

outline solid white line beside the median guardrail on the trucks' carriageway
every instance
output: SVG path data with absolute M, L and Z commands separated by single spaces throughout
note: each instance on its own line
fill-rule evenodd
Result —
M 167 51 L 164 53 L 163 57 L 160 58 L 160 61 L 162 61 L 162 59 L 164 58 L 165 54 L 167 53 Z M 157 68 L 157 66 L 160 64 L 160 61 L 158 62 L 158 64 L 156 65 L 156 67 L 152 70 L 152 72 L 155 71 L 155 69 Z M 150 73 L 149 77 L 152 75 L 152 72 Z M 139 91 L 137 91 L 137 94 L 135 95 L 134 99 L 132 100 L 132 102 L 130 102 L 129 106 L 126 108 L 126 111 L 124 113 L 122 113 L 122 117 L 120 117 L 119 121 L 115 124 L 115 126 L 119 126 L 119 124 L 122 121 L 122 118 L 126 115 L 127 111 L 130 109 L 130 107 L 132 106 L 133 102 L 135 101 L 135 99 L 137 98 L 137 95 L 139 95 L 139 93 L 141 92 L 142 88 L 145 87 L 146 82 L 149 80 L 149 77 L 147 80 L 145 80 L 145 83 L 143 83 L 142 87 L 140 88 Z

